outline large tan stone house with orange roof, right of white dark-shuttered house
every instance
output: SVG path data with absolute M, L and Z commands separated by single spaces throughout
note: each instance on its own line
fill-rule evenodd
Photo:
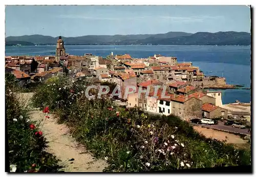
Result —
M 184 120 L 193 118 L 202 118 L 202 100 L 195 97 L 186 97 L 184 95 L 175 95 L 172 98 L 172 114 L 179 116 Z

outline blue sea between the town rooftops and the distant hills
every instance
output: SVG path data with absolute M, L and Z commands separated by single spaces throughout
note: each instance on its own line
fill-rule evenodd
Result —
M 6 56 L 55 55 L 56 46 L 6 47 Z M 226 83 L 251 87 L 251 47 L 250 46 L 65 46 L 66 53 L 82 56 L 84 53 L 106 57 L 130 54 L 134 58 L 147 58 L 154 54 L 175 56 L 178 62 L 192 62 L 200 67 L 206 76 L 225 77 Z M 211 91 L 211 90 L 210 90 Z M 251 101 L 251 90 L 220 90 L 223 104 Z

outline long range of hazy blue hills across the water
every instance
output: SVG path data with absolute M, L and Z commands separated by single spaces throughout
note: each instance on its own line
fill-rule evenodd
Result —
M 26 41 L 37 45 L 55 45 L 58 37 L 43 35 L 9 36 L 6 42 Z M 66 45 L 240 45 L 248 46 L 250 33 L 246 32 L 168 32 L 165 34 L 88 35 L 62 37 Z

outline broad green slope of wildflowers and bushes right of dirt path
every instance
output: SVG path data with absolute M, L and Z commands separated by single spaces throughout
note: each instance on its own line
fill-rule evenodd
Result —
M 108 161 L 105 171 L 250 164 L 248 151 L 205 138 L 176 116 L 147 115 L 138 108 L 121 108 L 107 97 L 88 99 L 82 93 L 88 84 L 60 81 L 55 81 L 56 87 L 39 87 L 35 94 L 41 105 L 55 110 L 59 121 L 69 125 L 73 137 L 86 144 L 96 158 Z M 68 92 L 61 94 L 65 86 Z M 60 104 L 41 101 L 41 95 L 51 92 L 58 95 Z

